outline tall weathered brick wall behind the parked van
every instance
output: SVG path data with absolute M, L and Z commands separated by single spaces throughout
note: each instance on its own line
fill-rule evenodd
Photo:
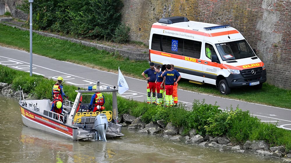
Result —
M 122 21 L 130 39 L 148 44 L 152 23 L 162 17 L 230 24 L 267 67 L 267 82 L 291 89 L 290 0 L 123 0 Z

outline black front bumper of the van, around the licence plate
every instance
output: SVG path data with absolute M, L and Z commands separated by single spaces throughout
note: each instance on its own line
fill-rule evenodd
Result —
M 267 73 L 266 70 L 262 70 L 262 74 L 260 76 L 253 76 L 250 78 L 245 78 L 242 74 L 230 74 L 226 77 L 226 81 L 230 88 L 250 86 L 250 83 L 254 82 L 259 82 L 259 84 L 262 84 L 267 81 Z

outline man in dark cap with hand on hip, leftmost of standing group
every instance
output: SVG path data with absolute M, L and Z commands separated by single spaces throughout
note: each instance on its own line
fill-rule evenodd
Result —
M 145 74 L 148 75 L 148 77 L 145 76 Z M 156 104 L 156 72 L 155 72 L 155 65 L 154 63 L 150 62 L 150 68 L 146 69 L 143 73 L 141 73 L 141 76 L 145 78 L 148 81 L 148 86 L 147 86 L 147 93 L 148 93 L 148 98 L 147 98 L 147 103 L 151 103 L 150 99 L 150 94 L 152 93 L 152 104 Z

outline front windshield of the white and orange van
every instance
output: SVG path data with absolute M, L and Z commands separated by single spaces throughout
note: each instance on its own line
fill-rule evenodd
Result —
M 223 61 L 249 58 L 255 56 L 246 40 L 215 44 Z

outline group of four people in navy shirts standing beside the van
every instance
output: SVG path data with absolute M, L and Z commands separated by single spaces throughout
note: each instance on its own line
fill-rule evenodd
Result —
M 165 105 L 166 107 L 177 106 L 177 87 L 181 75 L 174 69 L 173 64 L 165 65 L 165 68 L 165 70 L 161 71 L 161 65 L 155 67 L 154 63 L 150 62 L 150 68 L 141 74 L 148 81 L 147 103 Z

